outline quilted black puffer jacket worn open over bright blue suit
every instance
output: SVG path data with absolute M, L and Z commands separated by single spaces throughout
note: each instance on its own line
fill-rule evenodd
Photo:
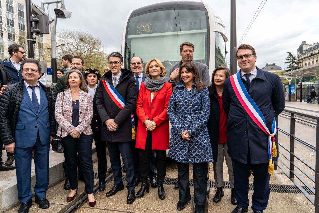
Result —
M 0 99 L 0 135 L 4 144 L 15 142 L 14 132 L 16 129 L 16 124 L 18 122 L 20 105 L 24 95 L 23 83 L 24 80 L 22 79 L 19 83 L 15 83 L 7 87 Z M 39 85 L 41 85 L 47 95 L 50 132 L 51 136 L 55 137 L 56 119 L 54 117 L 53 94 L 49 87 L 43 85 L 41 82 L 39 82 Z

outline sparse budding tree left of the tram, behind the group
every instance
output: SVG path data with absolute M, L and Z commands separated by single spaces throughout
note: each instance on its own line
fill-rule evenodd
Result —
M 104 69 L 108 64 L 108 57 L 106 49 L 102 46 L 100 38 L 95 38 L 88 32 L 82 32 L 81 30 L 62 30 L 57 33 L 56 44 L 65 44 L 65 46 L 59 46 L 56 48 L 57 67 L 62 68 L 62 57 L 65 54 L 71 54 L 72 56 L 81 56 L 84 59 L 85 67 L 95 68 L 104 73 Z M 48 46 L 48 44 L 46 45 Z M 48 47 L 50 47 L 49 44 Z M 45 54 L 45 59 L 49 61 L 50 51 Z

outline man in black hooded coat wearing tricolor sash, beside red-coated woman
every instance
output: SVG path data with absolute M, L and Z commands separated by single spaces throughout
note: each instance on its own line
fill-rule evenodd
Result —
M 103 141 L 107 141 L 114 176 L 114 186 L 106 193 L 106 196 L 112 196 L 124 189 L 121 153 L 126 168 L 126 188 L 129 191 L 127 203 L 131 204 L 135 200 L 131 143 L 132 139 L 135 139 L 132 112 L 136 108 L 136 80 L 132 71 L 121 69 L 123 57 L 120 53 L 109 54 L 108 64 L 111 72 L 105 73 L 101 78 L 96 96 L 96 106 L 103 122 L 101 138 Z

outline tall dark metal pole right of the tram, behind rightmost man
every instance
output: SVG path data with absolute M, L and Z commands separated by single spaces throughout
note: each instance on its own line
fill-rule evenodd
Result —
M 237 58 L 234 54 L 234 48 L 237 47 L 236 32 L 236 0 L 230 0 L 230 71 L 237 73 Z

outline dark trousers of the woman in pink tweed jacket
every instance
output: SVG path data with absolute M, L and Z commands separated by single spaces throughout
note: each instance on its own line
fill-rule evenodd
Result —
M 87 194 L 93 193 L 93 135 L 85 135 L 82 133 L 79 138 L 73 138 L 68 134 L 65 138 L 62 138 L 61 141 L 64 146 L 63 153 L 71 189 L 77 189 L 78 187 L 77 162 L 79 158 L 83 171 L 85 191 Z

